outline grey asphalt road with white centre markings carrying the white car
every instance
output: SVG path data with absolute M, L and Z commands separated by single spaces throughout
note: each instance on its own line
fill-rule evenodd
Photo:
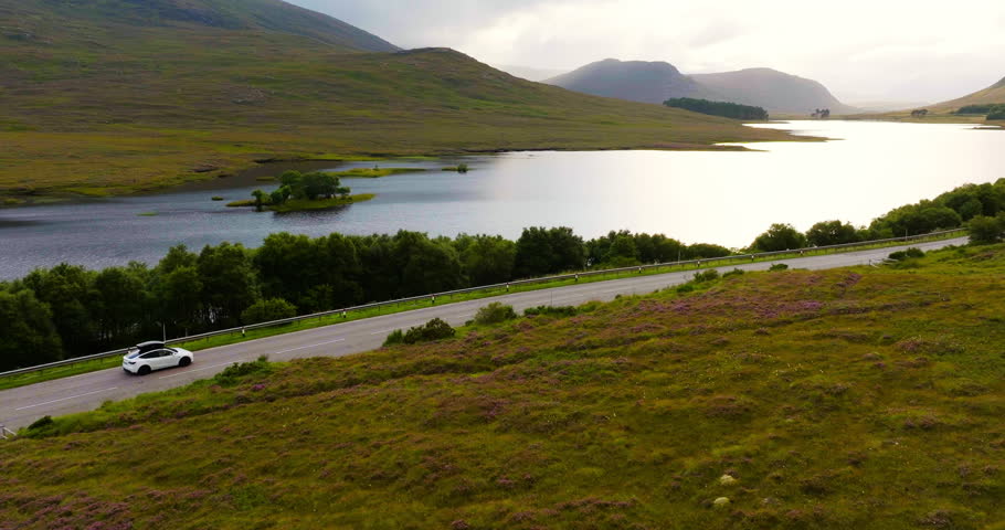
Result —
M 832 254 L 826 256 L 780 259 L 793 268 L 824 269 L 851 265 L 867 265 L 879 262 L 891 252 L 907 246 L 934 250 L 946 245 L 965 244 L 966 239 L 954 239 L 932 243 L 887 247 L 870 251 Z M 742 268 L 764 271 L 772 263 L 753 263 L 740 266 L 719 267 L 720 272 Z M 45 416 L 57 416 L 97 409 L 105 401 L 125 400 L 146 392 L 156 392 L 188 384 L 199 379 L 211 378 L 225 367 L 240 361 L 250 361 L 267 354 L 269 360 L 286 361 L 307 357 L 342 357 L 379 348 L 388 333 L 406 329 L 440 317 L 451 325 L 469 320 L 478 308 L 490 301 L 511 305 L 517 311 L 542 305 L 568 306 L 590 300 L 611 300 L 617 295 L 647 294 L 668 286 L 688 282 L 694 271 L 669 273 L 637 278 L 594 282 L 589 284 L 541 289 L 528 293 L 432 306 L 394 315 L 356 320 L 295 333 L 281 335 L 223 346 L 195 352 L 195 362 L 183 369 L 168 369 L 146 377 L 129 375 L 115 368 L 65 379 L 46 381 L 29 386 L 0 391 L 0 424 L 17 430 Z

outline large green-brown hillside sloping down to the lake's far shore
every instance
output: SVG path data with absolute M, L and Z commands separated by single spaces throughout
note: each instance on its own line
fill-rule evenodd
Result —
M 304 13 L 272 0 L 0 0 L 0 205 L 256 159 L 786 138 L 572 94 L 447 50 L 355 53 L 372 43 Z

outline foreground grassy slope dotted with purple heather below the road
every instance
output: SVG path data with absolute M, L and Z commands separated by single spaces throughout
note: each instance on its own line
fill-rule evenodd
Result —
M 900 267 L 747 274 L 107 404 L 0 444 L 0 520 L 1001 530 L 1005 247 Z

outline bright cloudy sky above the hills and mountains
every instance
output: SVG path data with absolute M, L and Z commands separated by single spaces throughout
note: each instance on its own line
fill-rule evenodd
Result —
M 571 70 L 606 57 L 685 73 L 768 66 L 849 102 L 935 102 L 1005 76 L 1005 1 L 292 0 L 403 47 Z

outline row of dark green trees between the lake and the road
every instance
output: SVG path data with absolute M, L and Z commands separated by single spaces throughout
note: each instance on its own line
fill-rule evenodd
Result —
M 891 210 L 869 226 L 824 221 L 806 232 L 774 224 L 747 248 L 687 245 L 663 234 L 612 231 L 585 241 L 569 227 L 430 237 L 272 234 L 258 248 L 221 243 L 170 248 L 154 266 L 88 271 L 61 264 L 0 283 L 0 371 L 126 347 L 139 340 L 464 287 L 589 268 L 733 253 L 827 246 L 970 225 L 1005 235 L 1005 179 L 969 184 Z

